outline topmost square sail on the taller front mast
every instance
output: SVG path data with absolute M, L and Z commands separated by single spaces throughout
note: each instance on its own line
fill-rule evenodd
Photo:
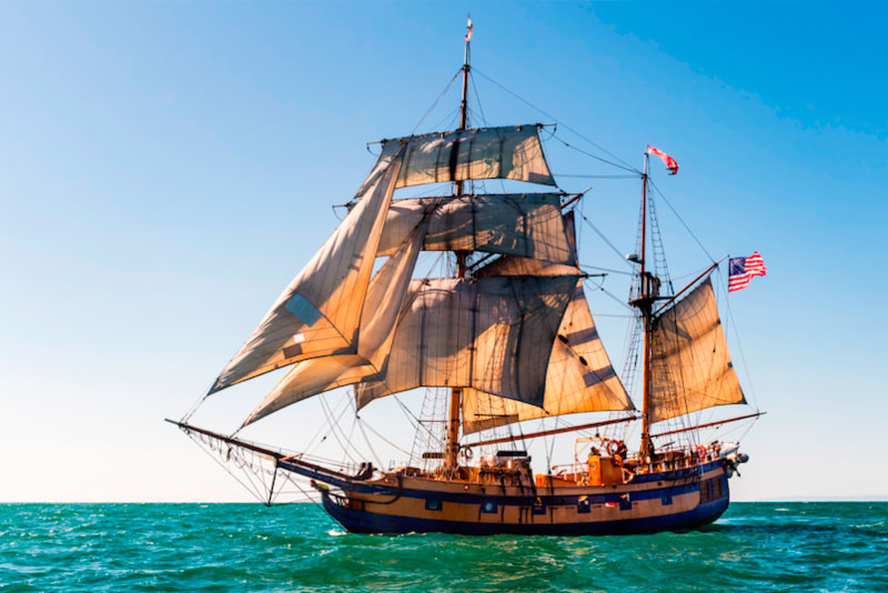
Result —
M 391 159 L 403 144 L 406 149 L 397 188 L 470 179 L 514 179 L 555 185 L 536 124 L 383 140 L 380 159 Z

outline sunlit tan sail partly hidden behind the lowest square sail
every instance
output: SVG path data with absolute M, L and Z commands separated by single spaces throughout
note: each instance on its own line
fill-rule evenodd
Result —
M 564 265 L 546 265 L 524 258 L 501 258 L 488 268 L 495 273 L 546 274 Z M 595 329 L 583 281 L 576 287 L 552 348 L 543 406 L 528 405 L 474 389 L 463 390 L 463 432 L 534 420 L 548 415 L 633 410 Z

